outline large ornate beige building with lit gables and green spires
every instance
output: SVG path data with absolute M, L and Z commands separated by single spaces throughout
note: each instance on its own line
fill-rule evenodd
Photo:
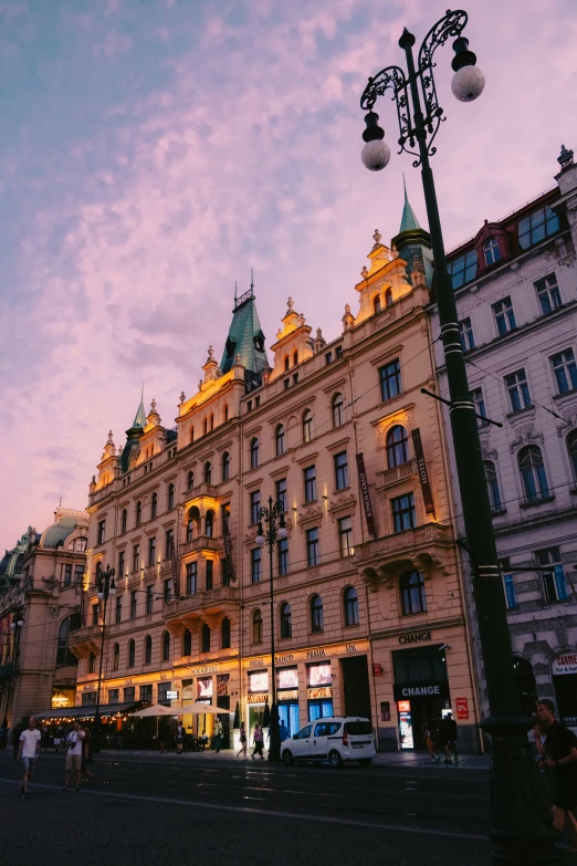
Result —
M 272 613 L 291 732 L 363 714 L 381 749 L 419 749 L 424 721 L 459 708 L 462 745 L 478 748 L 445 442 L 439 404 L 421 393 L 436 389 L 428 263 L 412 261 L 408 282 L 374 240 L 338 338 L 313 335 L 288 299 L 269 366 L 251 288 L 220 366 L 210 348 L 198 392 L 181 395 L 176 430 L 153 400 L 124 448 L 108 437 L 90 490 L 77 703 L 96 700 L 101 561 L 118 587 L 102 702 L 172 692 L 174 705 L 218 705 L 229 727 L 239 702 L 253 728 L 271 696 L 269 557 L 255 536 L 272 497 L 288 529 Z

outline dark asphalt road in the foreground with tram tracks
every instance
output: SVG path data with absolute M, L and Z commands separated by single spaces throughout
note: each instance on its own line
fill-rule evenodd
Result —
M 20 766 L 0 753 L 3 863 L 490 864 L 484 769 L 101 754 L 76 794 L 63 768 L 43 752 L 22 801 Z

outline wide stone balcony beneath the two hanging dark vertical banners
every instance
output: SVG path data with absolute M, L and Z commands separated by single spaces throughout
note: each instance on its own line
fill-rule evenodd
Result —
M 441 523 L 426 523 L 406 532 L 355 545 L 354 561 L 369 592 L 378 592 L 381 583 L 392 588 L 401 574 L 420 571 L 424 580 L 436 573 L 447 574 L 452 561 L 453 530 Z

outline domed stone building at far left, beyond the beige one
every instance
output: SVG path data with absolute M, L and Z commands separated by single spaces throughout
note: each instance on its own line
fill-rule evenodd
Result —
M 71 636 L 82 623 L 88 515 L 59 508 L 21 551 L 19 580 L 0 597 L 0 718 L 74 707 L 76 657 Z

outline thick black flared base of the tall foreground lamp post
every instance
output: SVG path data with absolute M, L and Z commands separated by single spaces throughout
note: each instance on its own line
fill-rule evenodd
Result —
M 491 734 L 491 811 L 489 834 L 493 866 L 559 864 L 550 802 L 527 739 L 527 716 L 493 716 L 481 722 Z

